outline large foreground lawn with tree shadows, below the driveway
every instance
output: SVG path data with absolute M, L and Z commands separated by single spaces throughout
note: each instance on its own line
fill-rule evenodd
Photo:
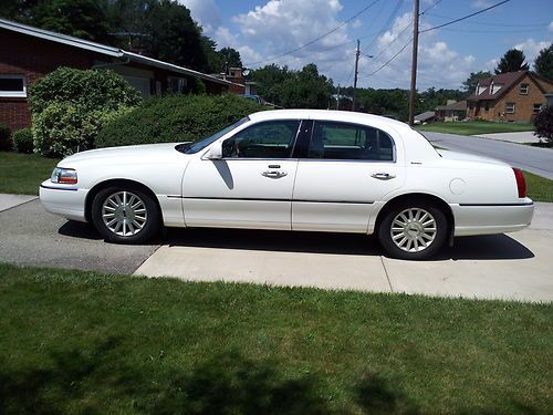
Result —
M 0 264 L 2 414 L 545 414 L 553 305 Z

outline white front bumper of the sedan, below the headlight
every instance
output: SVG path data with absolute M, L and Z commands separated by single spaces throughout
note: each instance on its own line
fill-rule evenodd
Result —
M 40 201 L 51 214 L 66 219 L 86 221 L 84 203 L 87 189 L 77 189 L 67 185 L 56 185 L 45 180 L 40 185 Z

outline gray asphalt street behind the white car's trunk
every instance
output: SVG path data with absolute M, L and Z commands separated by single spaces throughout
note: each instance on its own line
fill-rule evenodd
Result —
M 436 146 L 498 158 L 513 167 L 553 180 L 553 151 L 497 139 L 424 132 Z

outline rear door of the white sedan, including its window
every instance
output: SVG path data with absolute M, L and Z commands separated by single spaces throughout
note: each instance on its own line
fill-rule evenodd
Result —
M 314 121 L 300 158 L 292 229 L 367 232 L 373 204 L 404 183 L 392 136 L 371 126 Z

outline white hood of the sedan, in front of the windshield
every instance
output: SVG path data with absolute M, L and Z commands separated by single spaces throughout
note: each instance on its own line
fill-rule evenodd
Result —
M 117 158 L 118 160 L 125 159 L 140 159 L 147 158 L 148 160 L 157 160 L 159 158 L 186 156 L 185 154 L 175 149 L 179 143 L 160 143 L 160 144 L 144 144 L 136 146 L 124 147 L 108 147 L 90 149 L 82 153 L 73 154 L 60 162 L 60 166 L 70 166 L 74 163 L 82 163 L 102 158 L 104 160 L 109 158 Z

